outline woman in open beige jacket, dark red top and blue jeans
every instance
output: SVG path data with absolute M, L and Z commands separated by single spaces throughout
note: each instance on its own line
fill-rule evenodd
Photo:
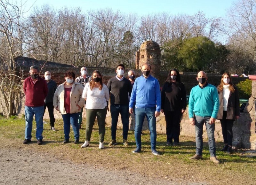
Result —
M 74 143 L 79 143 L 78 117 L 84 106 L 82 98 L 83 86 L 75 81 L 76 75 L 72 71 L 65 73 L 65 82 L 59 85 L 53 96 L 53 106 L 62 115 L 64 122 L 64 141 L 69 142 L 70 124 L 74 132 Z

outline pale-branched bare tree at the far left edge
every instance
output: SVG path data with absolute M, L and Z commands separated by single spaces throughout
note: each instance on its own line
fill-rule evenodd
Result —
M 15 113 L 21 99 L 23 73 L 15 58 L 31 45 L 22 11 L 22 4 L 0 1 L 0 104 L 5 117 Z

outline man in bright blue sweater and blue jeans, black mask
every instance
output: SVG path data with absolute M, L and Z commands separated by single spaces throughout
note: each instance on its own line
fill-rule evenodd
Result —
M 141 151 L 141 130 L 145 116 L 148 120 L 148 128 L 150 131 L 151 151 L 154 155 L 159 155 L 156 151 L 156 117 L 160 115 L 161 93 L 159 82 L 151 76 L 151 66 L 147 63 L 141 67 L 143 75 L 136 78 L 129 104 L 129 112 L 132 114 L 132 107 L 135 105 L 135 141 L 136 149 L 132 153 Z

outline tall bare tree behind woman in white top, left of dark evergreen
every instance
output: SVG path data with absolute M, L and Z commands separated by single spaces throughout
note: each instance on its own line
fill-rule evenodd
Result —
M 121 26 L 124 18 L 119 11 L 113 12 L 108 8 L 90 11 L 89 15 L 92 16 L 94 25 L 94 39 L 92 39 L 90 48 L 94 51 L 93 56 L 95 56 L 92 61 L 93 65 L 97 67 L 112 66 L 111 64 L 114 65 L 113 58 L 120 54 L 117 52 L 117 46 L 124 33 L 124 27 Z

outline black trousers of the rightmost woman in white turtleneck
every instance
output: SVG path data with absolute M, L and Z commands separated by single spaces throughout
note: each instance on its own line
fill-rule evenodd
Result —
M 223 119 L 220 119 L 220 124 L 222 127 L 222 135 L 225 144 L 232 146 L 232 139 L 233 139 L 233 123 L 234 120 L 226 119 L 227 118 L 227 111 L 223 111 Z

